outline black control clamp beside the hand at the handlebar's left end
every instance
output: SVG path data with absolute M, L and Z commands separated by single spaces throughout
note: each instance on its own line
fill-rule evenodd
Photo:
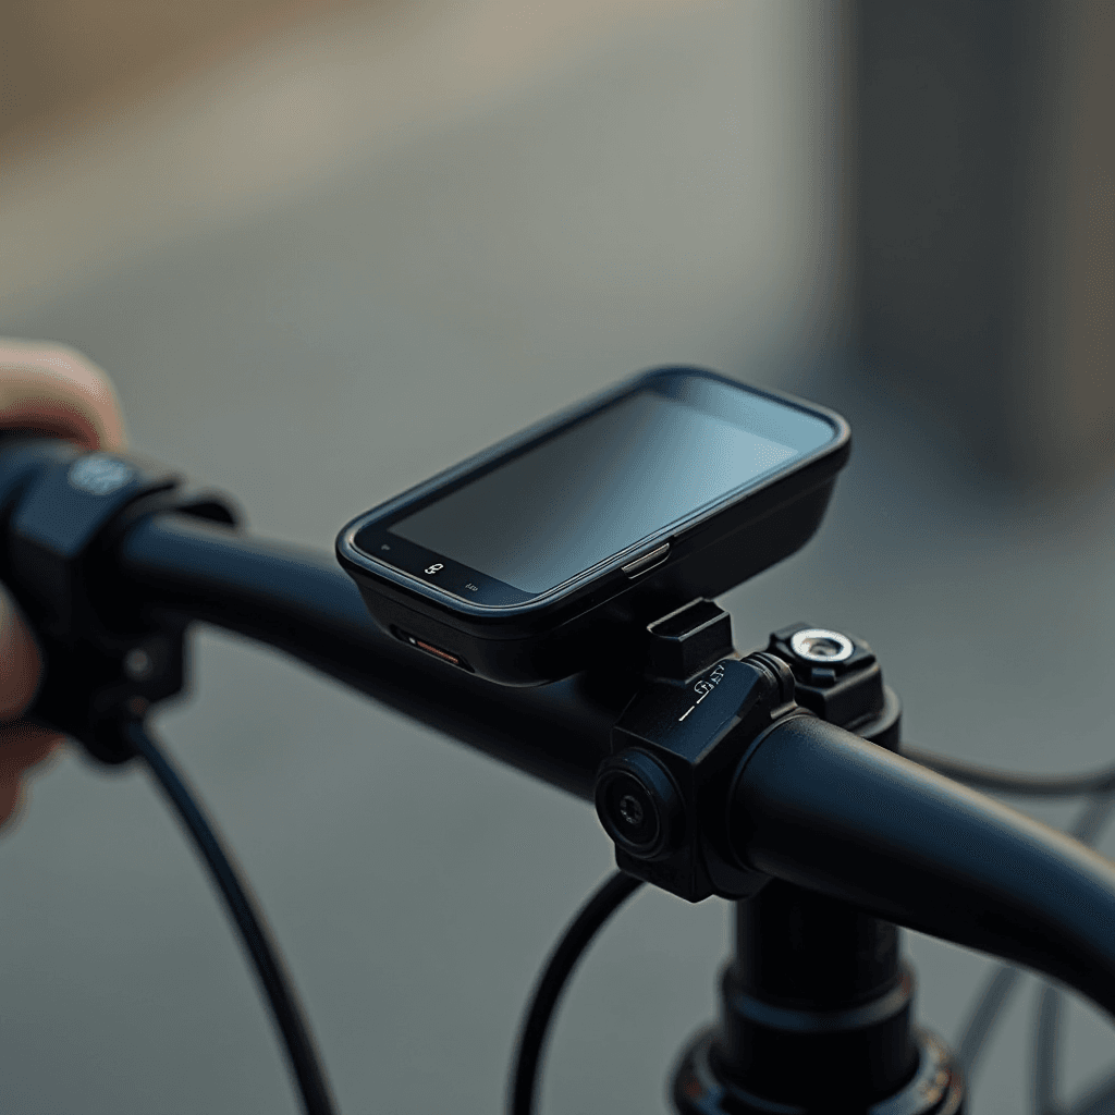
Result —
M 133 757 L 122 725 L 185 685 L 186 622 L 154 617 L 115 569 L 127 527 L 159 512 L 231 525 L 229 501 L 183 489 L 154 462 L 0 433 L 0 579 L 36 633 L 42 681 L 28 717 L 107 764 Z

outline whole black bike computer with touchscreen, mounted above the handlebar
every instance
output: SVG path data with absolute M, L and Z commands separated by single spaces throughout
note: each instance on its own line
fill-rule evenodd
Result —
M 558 680 L 630 630 L 801 547 L 847 459 L 830 410 L 662 368 L 360 515 L 337 553 L 375 620 L 505 685 Z

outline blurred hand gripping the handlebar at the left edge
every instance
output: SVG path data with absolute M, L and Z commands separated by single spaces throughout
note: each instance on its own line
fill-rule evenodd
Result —
M 0 429 L 35 429 L 87 449 L 123 449 L 124 421 L 108 377 L 61 345 L 0 338 Z M 0 585 L 0 825 L 25 793 L 25 776 L 62 737 L 20 719 L 41 661 L 35 637 Z

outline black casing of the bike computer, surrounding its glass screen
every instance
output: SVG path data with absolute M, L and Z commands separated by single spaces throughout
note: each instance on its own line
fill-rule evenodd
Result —
M 656 381 L 685 377 L 776 401 L 826 423 L 833 436 L 743 491 L 727 493 L 520 603 L 491 607 L 462 599 L 360 547 L 362 531 L 398 522 Z M 396 638 L 492 681 L 541 685 L 614 661 L 626 651 L 639 657 L 642 648 L 631 640 L 644 638 L 648 622 L 695 597 L 719 595 L 798 550 L 820 525 L 849 452 L 847 424 L 830 410 L 702 369 L 661 368 L 532 426 L 359 516 L 338 536 L 337 554 L 372 618 Z M 624 572 L 624 565 L 653 556 L 667 543 L 665 558 L 646 572 Z

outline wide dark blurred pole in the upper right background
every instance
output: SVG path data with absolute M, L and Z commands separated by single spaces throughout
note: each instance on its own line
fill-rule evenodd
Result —
M 1115 6 L 853 0 L 866 375 L 1016 479 L 1115 456 Z

